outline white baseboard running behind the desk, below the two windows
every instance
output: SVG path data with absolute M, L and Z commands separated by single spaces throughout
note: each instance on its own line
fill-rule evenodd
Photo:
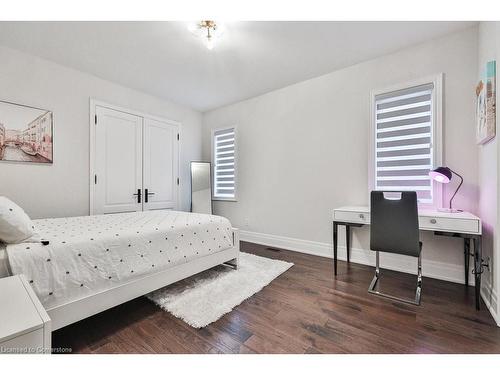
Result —
M 311 254 L 321 257 L 333 258 L 333 247 L 329 243 L 301 240 L 297 238 L 276 236 L 274 234 L 265 234 L 249 231 L 240 231 L 242 241 L 253 242 L 261 245 L 278 247 L 286 250 L 297 251 L 305 254 Z M 346 260 L 347 253 L 345 246 L 337 249 L 338 259 Z M 411 257 L 405 257 L 396 254 L 380 254 L 383 268 L 394 271 L 417 273 L 417 262 Z M 375 253 L 371 250 L 351 248 L 351 262 L 375 265 Z M 435 279 L 451 281 L 463 284 L 464 270 L 461 265 L 436 262 L 433 260 L 422 259 L 422 274 Z M 469 278 L 470 285 L 474 285 L 474 278 Z

